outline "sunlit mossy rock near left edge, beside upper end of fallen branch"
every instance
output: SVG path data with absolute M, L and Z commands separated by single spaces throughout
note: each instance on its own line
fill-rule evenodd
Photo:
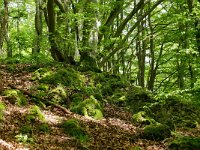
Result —
M 19 90 L 5 90 L 2 95 L 8 98 L 9 102 L 12 104 L 18 104 L 19 106 L 24 106 L 27 104 L 27 99 Z

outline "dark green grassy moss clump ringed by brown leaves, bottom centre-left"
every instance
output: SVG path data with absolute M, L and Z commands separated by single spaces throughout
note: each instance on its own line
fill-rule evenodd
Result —
M 76 138 L 81 143 L 88 142 L 90 139 L 84 129 L 80 126 L 79 121 L 76 119 L 64 121 L 61 124 L 61 127 L 64 129 L 66 134 Z

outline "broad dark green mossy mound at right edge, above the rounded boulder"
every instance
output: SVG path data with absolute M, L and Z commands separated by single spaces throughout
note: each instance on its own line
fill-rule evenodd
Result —
M 149 106 L 150 115 L 156 121 L 175 127 L 195 128 L 200 123 L 198 110 L 186 100 L 169 96 Z

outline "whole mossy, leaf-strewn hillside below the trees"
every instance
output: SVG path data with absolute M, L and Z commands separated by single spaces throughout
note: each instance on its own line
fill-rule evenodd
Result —
M 197 105 L 80 70 L 1 65 L 0 149 L 200 149 Z

